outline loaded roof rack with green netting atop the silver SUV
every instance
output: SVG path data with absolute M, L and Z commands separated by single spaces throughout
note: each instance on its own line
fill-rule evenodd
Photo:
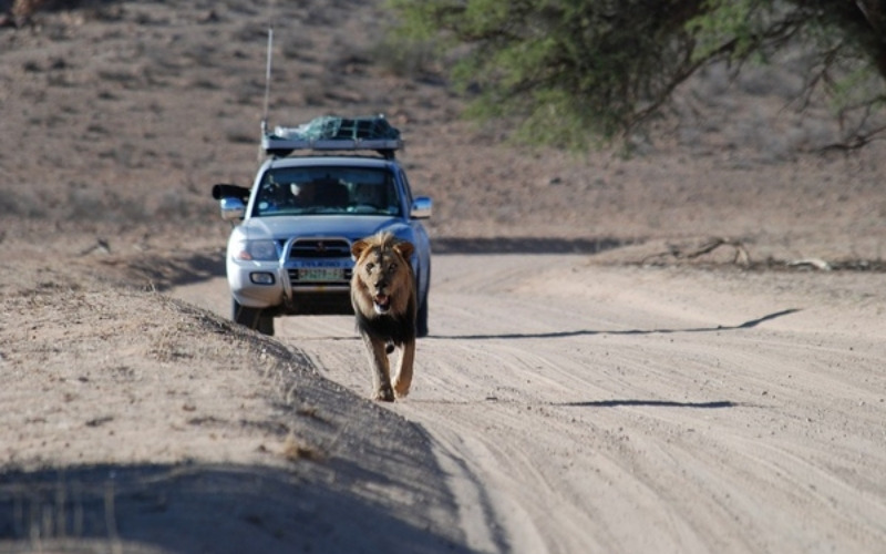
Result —
M 393 158 L 394 152 L 402 147 L 400 131 L 384 115 L 317 117 L 297 127 L 278 126 L 274 133 L 264 132 L 261 136 L 261 148 L 271 156 L 288 156 L 298 150 L 373 150 Z

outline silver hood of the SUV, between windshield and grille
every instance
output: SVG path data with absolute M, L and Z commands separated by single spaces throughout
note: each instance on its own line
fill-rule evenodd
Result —
M 382 230 L 403 237 L 409 229 L 409 225 L 399 217 L 363 215 L 256 217 L 240 225 L 240 232 L 246 238 L 280 240 L 296 236 L 346 237 L 356 240 Z

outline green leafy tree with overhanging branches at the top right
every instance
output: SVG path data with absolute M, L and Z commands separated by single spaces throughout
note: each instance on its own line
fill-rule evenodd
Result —
M 390 0 L 396 40 L 433 43 L 468 115 L 532 143 L 586 146 L 643 127 L 702 66 L 808 52 L 800 98 L 864 121 L 886 101 L 886 0 Z M 873 83 L 873 86 L 872 86 Z M 861 115 L 859 115 L 861 114 Z M 846 146 L 882 129 L 859 125 Z

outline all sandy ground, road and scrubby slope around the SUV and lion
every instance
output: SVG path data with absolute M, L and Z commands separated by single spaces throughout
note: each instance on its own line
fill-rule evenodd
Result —
M 208 189 L 255 171 L 269 13 L 272 115 L 389 114 L 435 199 L 402 402 L 349 318 L 227 320 Z M 393 72 L 382 20 L 0 28 L 0 552 L 882 551 L 883 146 L 804 153 L 833 124 L 760 70 L 689 83 L 633 157 L 518 148 Z

